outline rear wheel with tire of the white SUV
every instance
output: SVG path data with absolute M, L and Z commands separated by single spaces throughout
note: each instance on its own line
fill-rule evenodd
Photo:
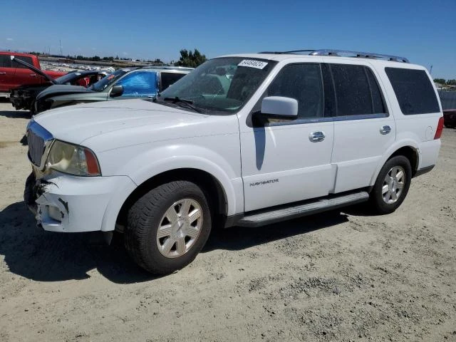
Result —
M 407 196 L 411 180 L 412 167 L 407 157 L 397 155 L 385 162 L 371 191 L 370 202 L 375 213 L 390 214 L 398 209 Z

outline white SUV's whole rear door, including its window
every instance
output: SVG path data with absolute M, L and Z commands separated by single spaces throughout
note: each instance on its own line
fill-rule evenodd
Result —
M 385 151 L 395 141 L 395 120 L 388 113 L 383 86 L 371 66 L 326 64 L 333 79 L 334 192 L 368 187 Z

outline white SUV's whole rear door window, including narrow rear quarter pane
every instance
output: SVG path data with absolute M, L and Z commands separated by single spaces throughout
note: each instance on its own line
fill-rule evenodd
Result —
M 386 113 L 383 96 L 371 69 L 331 64 L 338 116 Z

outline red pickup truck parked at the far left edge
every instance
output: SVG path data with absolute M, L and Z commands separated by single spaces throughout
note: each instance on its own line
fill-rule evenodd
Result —
M 38 56 L 28 53 L 0 51 L 0 95 L 9 96 L 11 89 L 24 84 L 46 83 L 48 81 L 26 66 L 12 61 L 13 58 L 20 59 L 35 68 L 41 69 Z M 51 78 L 58 78 L 66 74 L 62 71 L 44 71 L 44 73 L 51 76 Z

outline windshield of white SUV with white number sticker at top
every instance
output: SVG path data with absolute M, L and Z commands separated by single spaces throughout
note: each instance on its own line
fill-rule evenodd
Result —
M 234 113 L 247 103 L 275 65 L 275 61 L 258 58 L 214 58 L 160 93 L 156 102 L 176 105 L 186 100 L 202 113 Z

